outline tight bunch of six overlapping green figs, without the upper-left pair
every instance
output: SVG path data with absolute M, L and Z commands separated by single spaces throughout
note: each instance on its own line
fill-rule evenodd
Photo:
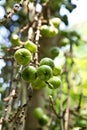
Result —
M 54 65 L 54 61 L 48 57 L 41 59 L 38 68 L 28 65 L 21 72 L 22 79 L 30 82 L 34 89 L 41 89 L 46 86 L 56 89 L 60 86 L 60 68 Z

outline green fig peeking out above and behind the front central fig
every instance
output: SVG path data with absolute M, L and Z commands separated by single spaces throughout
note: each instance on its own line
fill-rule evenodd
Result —
M 54 68 L 54 61 L 51 58 L 45 57 L 45 58 L 41 59 L 40 66 L 41 65 L 48 65 L 53 69 Z

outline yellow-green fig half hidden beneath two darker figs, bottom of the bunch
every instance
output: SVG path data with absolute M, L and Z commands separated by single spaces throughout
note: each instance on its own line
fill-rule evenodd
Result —
M 42 89 L 46 86 L 47 84 L 45 83 L 45 81 L 42 81 L 39 78 L 37 78 L 36 80 L 34 80 L 34 82 L 32 82 L 33 89 Z

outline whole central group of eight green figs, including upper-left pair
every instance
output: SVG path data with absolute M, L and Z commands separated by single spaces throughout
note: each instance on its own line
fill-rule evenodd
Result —
M 21 77 L 25 82 L 31 83 L 34 89 L 41 89 L 46 86 L 56 89 L 60 86 L 61 68 L 56 67 L 54 60 L 48 57 L 42 58 L 36 68 L 31 65 L 33 53 L 37 46 L 32 41 L 26 41 L 23 48 L 18 49 L 14 58 L 19 65 L 23 66 Z

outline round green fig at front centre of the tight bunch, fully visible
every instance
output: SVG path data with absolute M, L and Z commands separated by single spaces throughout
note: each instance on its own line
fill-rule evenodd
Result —
M 42 65 L 37 69 L 37 76 L 44 81 L 52 77 L 52 69 L 48 65 Z

